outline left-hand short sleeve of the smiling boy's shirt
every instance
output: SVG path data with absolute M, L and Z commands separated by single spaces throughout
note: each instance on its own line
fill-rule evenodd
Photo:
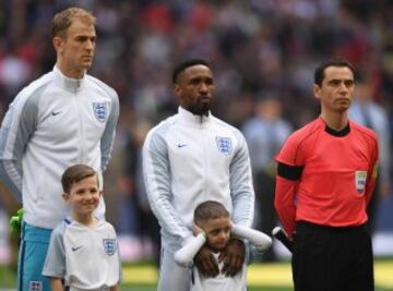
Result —
M 64 278 L 66 276 L 64 231 L 66 223 L 62 223 L 57 227 L 50 235 L 49 247 L 43 269 L 45 277 Z

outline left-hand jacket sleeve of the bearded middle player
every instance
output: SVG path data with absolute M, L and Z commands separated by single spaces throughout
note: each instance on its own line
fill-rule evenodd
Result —
M 143 177 L 147 198 L 159 225 L 181 243 L 192 235 L 171 204 L 168 148 L 162 134 L 153 129 L 146 136 L 142 151 Z

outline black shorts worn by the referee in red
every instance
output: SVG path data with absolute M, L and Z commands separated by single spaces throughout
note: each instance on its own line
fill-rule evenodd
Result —
M 295 291 L 373 291 L 371 237 L 365 226 L 298 221 L 294 237 Z

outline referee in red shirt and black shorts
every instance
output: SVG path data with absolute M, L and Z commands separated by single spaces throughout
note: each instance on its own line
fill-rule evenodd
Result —
M 276 156 L 274 206 L 294 242 L 296 291 L 374 290 L 365 228 L 378 163 L 377 135 L 348 120 L 354 69 L 332 59 L 314 72 L 318 119 L 293 133 Z

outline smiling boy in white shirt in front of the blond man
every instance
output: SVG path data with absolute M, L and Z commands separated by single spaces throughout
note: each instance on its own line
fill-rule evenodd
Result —
M 121 263 L 114 227 L 97 219 L 102 191 L 96 171 L 75 165 L 61 178 L 63 199 L 71 217 L 55 228 L 43 275 L 49 277 L 52 291 L 119 290 Z

